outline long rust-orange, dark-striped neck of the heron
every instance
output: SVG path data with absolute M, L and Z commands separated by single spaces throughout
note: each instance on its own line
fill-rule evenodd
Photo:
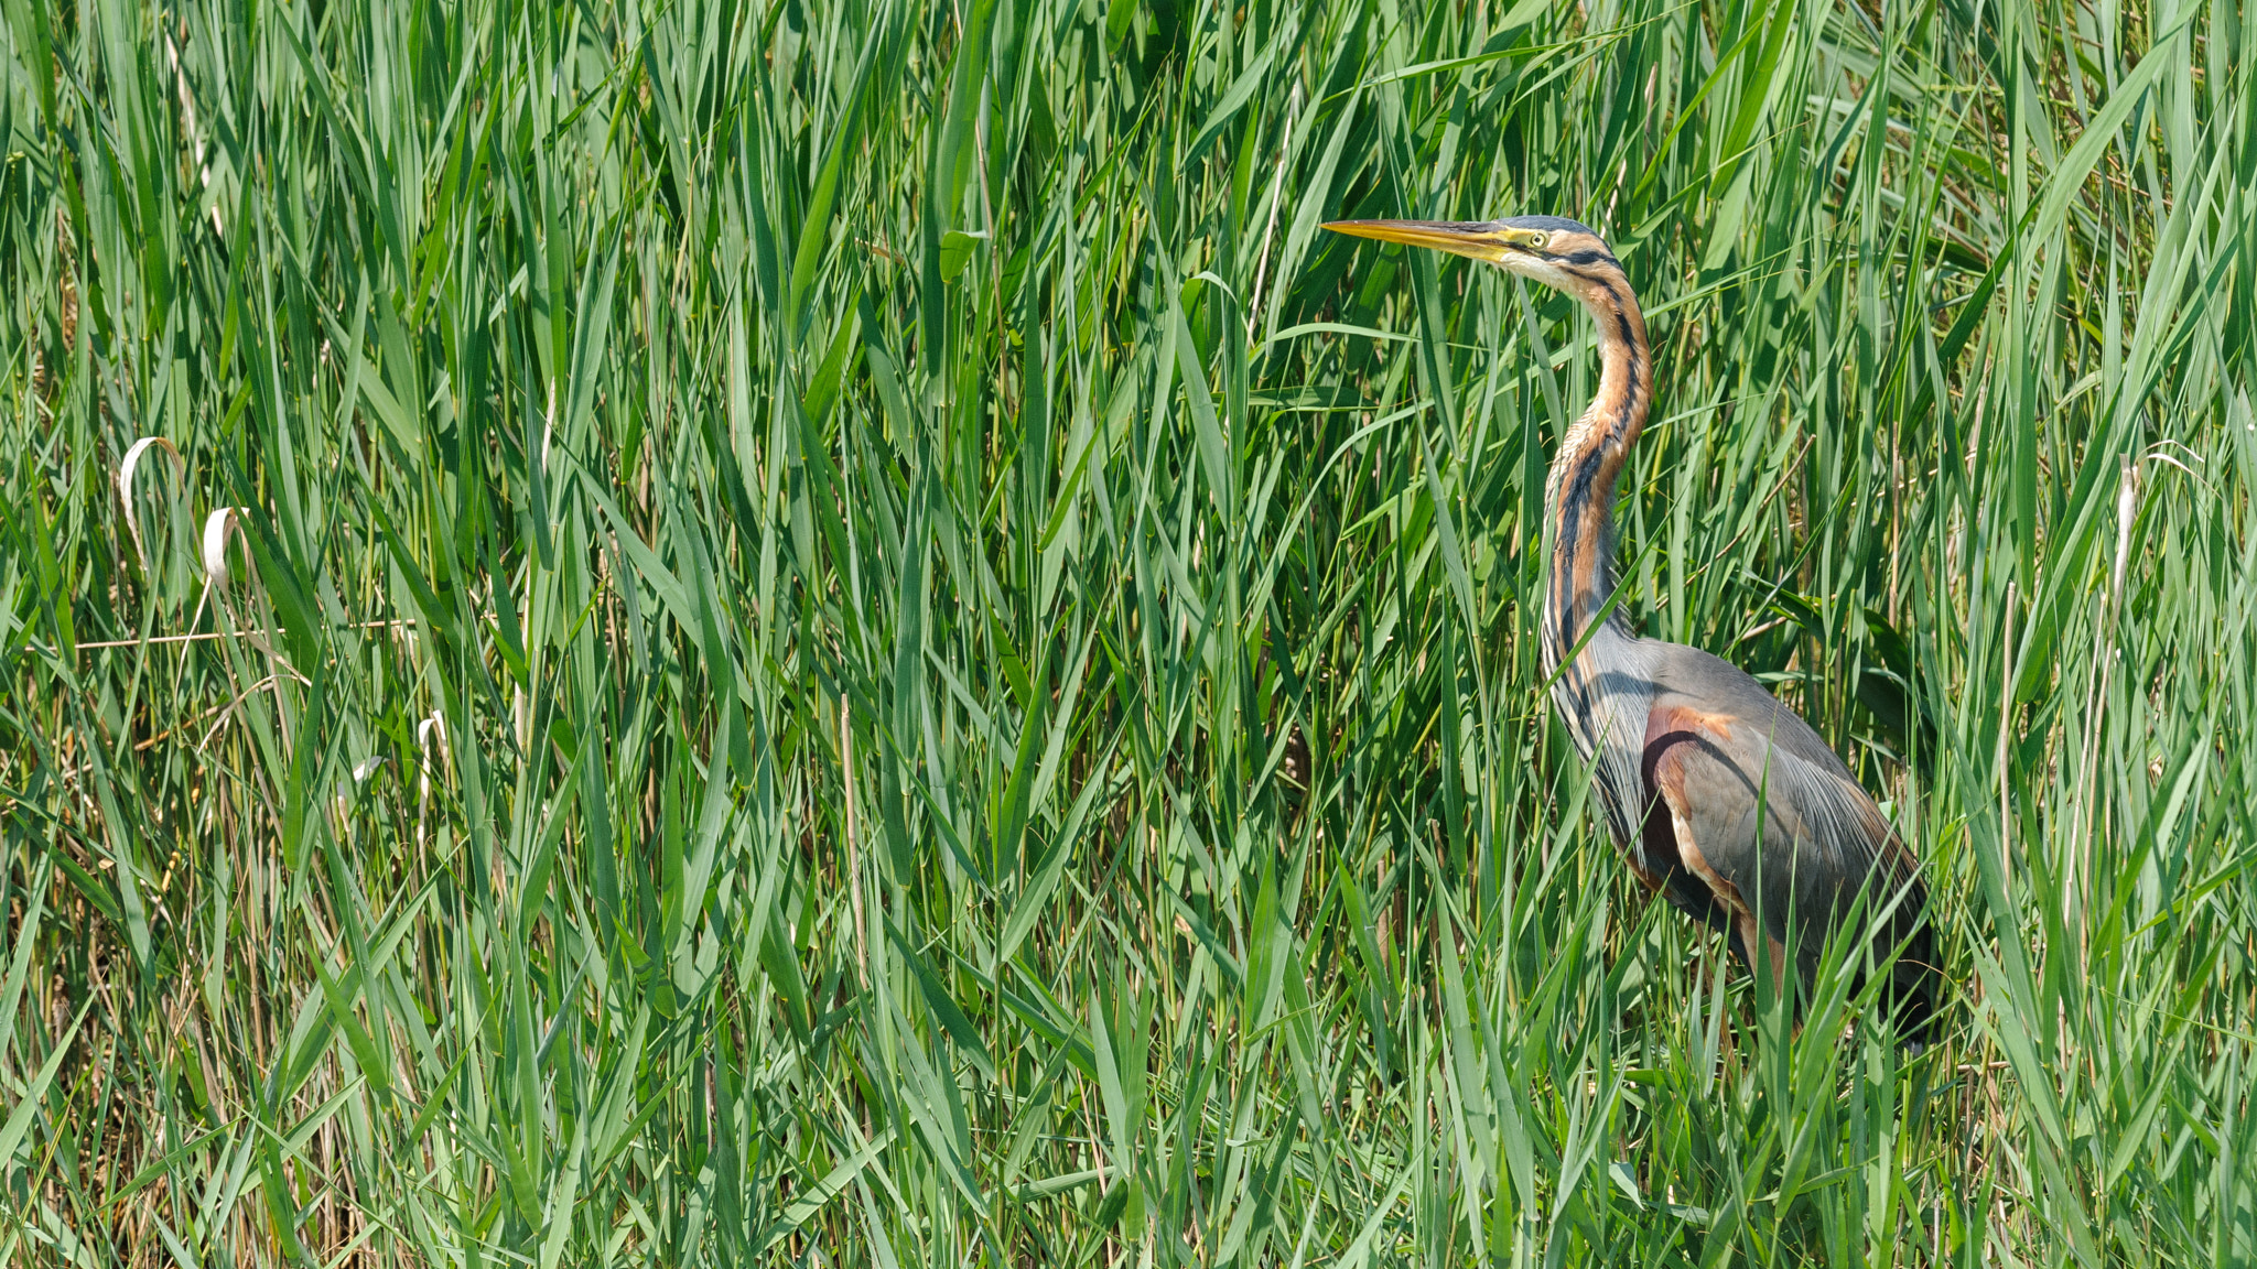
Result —
M 1589 282 L 1582 303 L 1598 325 L 1598 395 L 1566 431 L 1544 483 L 1553 549 L 1544 567 L 1544 666 L 1555 671 L 1614 594 L 1614 479 L 1645 427 L 1654 364 L 1645 316 L 1623 282 Z M 1609 623 L 1623 623 L 1616 612 Z

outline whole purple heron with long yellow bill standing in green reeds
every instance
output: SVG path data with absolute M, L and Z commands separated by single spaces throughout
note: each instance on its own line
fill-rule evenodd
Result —
M 1553 707 L 1632 872 L 1722 930 L 1745 962 L 1810 980 L 1855 899 L 1878 912 L 1876 957 L 1898 951 L 1885 996 L 1907 1036 L 1934 1012 L 1932 933 L 1918 865 L 1842 759 L 1738 666 L 1641 639 L 1614 592 L 1614 488 L 1645 427 L 1654 373 L 1645 318 L 1614 253 L 1560 217 L 1334 221 L 1356 237 L 1487 260 L 1557 287 L 1598 330 L 1598 395 L 1569 427 L 1544 488 L 1544 668 Z M 1596 630 L 1593 630 L 1596 623 Z

